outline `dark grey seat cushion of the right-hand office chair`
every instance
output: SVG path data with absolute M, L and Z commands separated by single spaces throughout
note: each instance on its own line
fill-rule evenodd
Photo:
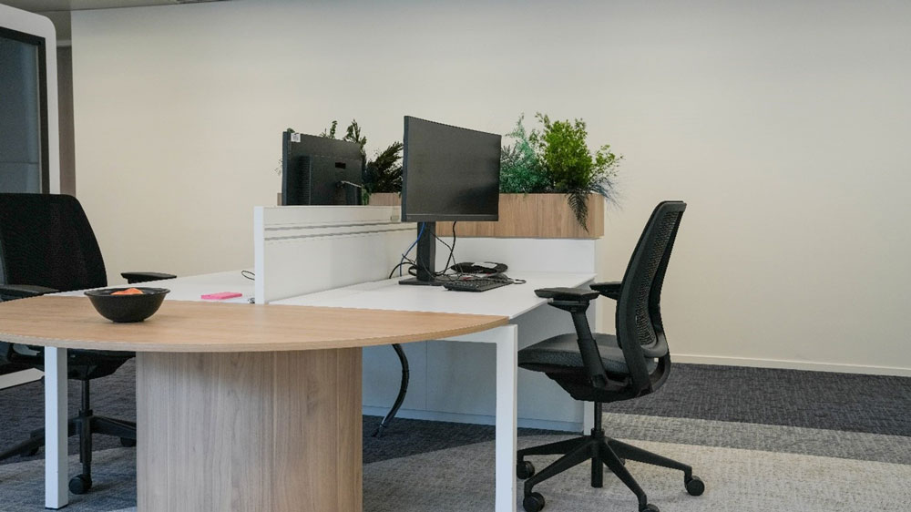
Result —
M 604 371 L 609 374 L 630 374 L 623 351 L 617 344 L 617 336 L 599 333 L 594 336 L 595 343 L 598 343 L 598 352 L 601 354 Z M 650 374 L 658 367 L 658 362 L 654 359 L 646 359 L 645 364 Z M 560 334 L 518 351 L 518 365 L 536 371 L 547 371 L 544 370 L 547 367 L 566 369 L 584 367 L 575 333 Z

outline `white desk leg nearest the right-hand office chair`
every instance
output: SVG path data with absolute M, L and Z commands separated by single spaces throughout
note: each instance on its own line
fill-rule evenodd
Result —
M 518 327 L 496 337 L 496 512 L 516 512 Z

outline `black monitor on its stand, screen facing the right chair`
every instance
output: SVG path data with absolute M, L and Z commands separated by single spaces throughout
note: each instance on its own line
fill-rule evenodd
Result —
M 500 136 L 404 118 L 402 220 L 417 221 L 417 278 L 435 281 L 436 221 L 498 220 Z

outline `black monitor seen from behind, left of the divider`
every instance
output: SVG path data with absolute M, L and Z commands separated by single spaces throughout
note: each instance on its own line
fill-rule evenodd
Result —
M 359 205 L 363 154 L 355 142 L 281 135 L 282 205 Z

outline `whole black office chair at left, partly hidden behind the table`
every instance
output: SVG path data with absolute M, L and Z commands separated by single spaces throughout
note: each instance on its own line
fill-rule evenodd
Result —
M 126 272 L 129 282 L 147 282 L 176 276 L 158 272 Z M 0 301 L 36 297 L 107 286 L 105 263 L 76 198 L 48 194 L 0 194 Z M 79 435 L 82 474 L 69 489 L 83 494 L 92 486 L 92 435 L 114 435 L 125 446 L 136 445 L 136 424 L 94 415 L 89 382 L 113 374 L 134 353 L 67 351 L 67 377 L 82 382 L 79 414 L 68 422 L 68 435 Z M 44 369 L 43 347 L 0 342 L 0 365 Z M 35 455 L 45 444 L 44 429 L 0 453 Z

